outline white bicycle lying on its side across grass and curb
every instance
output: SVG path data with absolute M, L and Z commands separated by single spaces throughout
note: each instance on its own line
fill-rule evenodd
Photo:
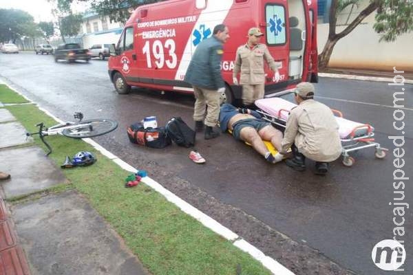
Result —
M 78 121 L 63 122 L 49 128 L 46 128 L 45 124 L 41 122 L 36 124 L 36 127 L 39 127 L 38 132 L 26 133 L 26 136 L 39 135 L 41 141 L 45 144 L 47 150 L 49 150 L 46 155 L 50 155 L 50 153 L 52 153 L 52 147 L 50 147 L 44 139 L 47 135 L 64 135 L 65 137 L 72 138 L 97 137 L 98 135 L 105 135 L 105 133 L 112 132 L 118 127 L 118 122 L 105 118 L 83 120 L 83 113 L 80 112 L 74 113 L 74 118 Z

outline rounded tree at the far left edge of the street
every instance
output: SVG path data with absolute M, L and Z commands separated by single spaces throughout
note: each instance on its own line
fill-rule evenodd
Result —
M 34 35 L 33 17 L 23 10 L 0 9 L 0 41 L 12 41 Z

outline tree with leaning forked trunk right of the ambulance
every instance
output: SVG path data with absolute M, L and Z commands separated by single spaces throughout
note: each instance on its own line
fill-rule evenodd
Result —
M 411 0 L 370 0 L 368 6 L 343 31 L 336 33 L 337 14 L 349 5 L 358 5 L 360 0 L 332 0 L 329 13 L 329 31 L 323 52 L 319 54 L 319 69 L 324 69 L 330 61 L 337 41 L 352 32 L 368 15 L 378 10 L 374 30 L 381 34 L 380 41 L 394 41 L 396 36 L 412 31 L 413 7 Z

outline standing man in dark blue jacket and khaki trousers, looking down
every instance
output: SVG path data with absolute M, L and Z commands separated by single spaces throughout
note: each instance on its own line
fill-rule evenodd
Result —
M 185 82 L 192 85 L 195 94 L 193 110 L 195 131 L 202 131 L 205 124 L 205 140 L 220 135 L 220 132 L 214 131 L 213 127 L 217 124 L 220 115 L 220 94 L 225 91 L 220 65 L 224 54 L 222 45 L 227 39 L 229 39 L 228 28 L 224 24 L 216 25 L 213 28 L 213 36 L 196 47 L 184 78 Z

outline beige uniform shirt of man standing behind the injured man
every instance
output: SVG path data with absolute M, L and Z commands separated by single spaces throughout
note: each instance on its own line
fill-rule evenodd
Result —
M 233 77 L 236 78 L 241 72 L 240 85 L 256 85 L 265 83 L 264 59 L 275 72 L 280 64 L 274 61 L 264 44 L 258 44 L 251 50 L 247 44 L 238 47 L 235 56 Z

